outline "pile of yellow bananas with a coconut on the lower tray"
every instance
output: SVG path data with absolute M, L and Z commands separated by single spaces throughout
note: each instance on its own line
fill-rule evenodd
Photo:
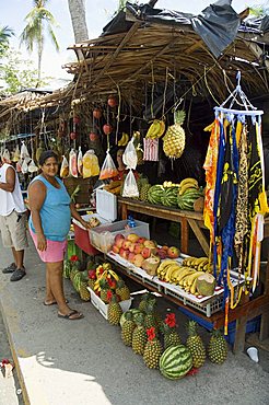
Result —
M 215 288 L 215 278 L 209 265 L 208 257 L 189 257 L 179 262 L 166 259 L 156 270 L 160 280 L 178 285 L 195 296 L 212 296 Z

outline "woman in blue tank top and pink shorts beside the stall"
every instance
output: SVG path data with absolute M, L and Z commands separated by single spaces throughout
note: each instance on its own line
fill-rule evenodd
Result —
M 89 223 L 77 212 L 63 183 L 57 177 L 58 157 L 51 150 L 39 158 L 42 173 L 28 187 L 31 210 L 30 233 L 40 259 L 46 263 L 45 305 L 58 304 L 58 316 L 66 320 L 80 320 L 83 314 L 68 306 L 63 293 L 63 257 L 67 250 L 67 235 L 71 216 L 84 228 Z

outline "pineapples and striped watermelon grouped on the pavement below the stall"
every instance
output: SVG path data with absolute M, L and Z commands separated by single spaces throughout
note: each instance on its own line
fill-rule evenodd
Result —
M 186 344 L 176 331 L 176 317 L 167 312 L 164 320 L 156 312 L 156 302 L 151 293 L 145 293 L 138 309 L 124 314 L 119 304 L 108 305 L 108 322 L 120 324 L 121 339 L 126 346 L 143 357 L 150 369 L 160 369 L 161 373 L 172 380 L 185 377 L 192 368 L 198 369 L 206 361 L 206 347 L 197 333 L 197 324 L 187 324 Z M 117 309 L 118 306 L 118 309 Z M 208 346 L 209 359 L 222 363 L 227 356 L 227 345 L 221 334 L 213 334 Z

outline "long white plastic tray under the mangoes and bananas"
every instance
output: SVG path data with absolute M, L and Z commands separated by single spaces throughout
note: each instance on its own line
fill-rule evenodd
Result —
M 118 254 L 114 252 L 109 252 L 107 254 L 113 262 L 119 264 L 122 268 L 125 268 L 127 275 L 130 275 L 137 279 L 140 284 L 153 287 L 156 291 L 163 293 L 167 298 L 176 299 L 177 301 L 182 302 L 186 306 L 192 306 L 194 309 L 198 310 L 199 312 L 203 313 L 207 317 L 210 317 L 213 313 L 219 312 L 222 310 L 223 303 L 223 288 L 217 287 L 214 294 L 210 297 L 204 296 L 194 296 L 189 292 L 186 292 L 182 287 L 172 285 L 169 282 L 165 282 L 160 280 L 156 276 L 149 276 L 142 268 L 136 267 L 132 263 L 126 261 Z M 178 257 L 178 262 L 180 263 L 186 255 L 182 255 Z M 231 281 L 234 286 L 237 285 L 238 279 L 236 276 L 236 271 L 232 271 L 231 274 Z M 241 284 L 243 280 L 241 281 Z

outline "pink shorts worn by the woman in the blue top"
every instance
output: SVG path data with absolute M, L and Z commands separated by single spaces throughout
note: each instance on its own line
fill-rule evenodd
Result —
M 58 242 L 50 241 L 47 239 L 46 251 L 38 251 L 37 248 L 37 235 L 30 229 L 31 236 L 33 238 L 35 247 L 40 259 L 45 263 L 57 263 L 62 262 L 67 252 L 67 241 Z

